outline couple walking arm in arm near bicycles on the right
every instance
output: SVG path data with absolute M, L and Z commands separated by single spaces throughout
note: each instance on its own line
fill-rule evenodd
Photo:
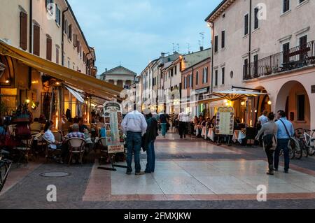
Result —
M 278 171 L 281 150 L 283 150 L 284 155 L 284 173 L 288 173 L 290 168 L 288 144 L 294 135 L 293 124 L 287 120 L 283 110 L 278 111 L 276 122 L 274 122 L 274 117 L 274 113 L 268 114 L 268 122 L 262 124 L 262 128 L 256 136 L 256 140 L 258 140 L 264 134 L 262 142 L 269 164 L 268 175 L 274 175 L 274 171 Z

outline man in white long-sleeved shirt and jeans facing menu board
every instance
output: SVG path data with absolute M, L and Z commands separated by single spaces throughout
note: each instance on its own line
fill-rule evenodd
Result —
M 127 135 L 127 175 L 132 173 L 132 152 L 134 152 L 134 165 L 136 175 L 143 175 L 140 165 L 140 150 L 142 145 L 142 136 L 146 133 L 146 118 L 134 108 L 134 111 L 128 113 L 121 124 L 122 130 Z

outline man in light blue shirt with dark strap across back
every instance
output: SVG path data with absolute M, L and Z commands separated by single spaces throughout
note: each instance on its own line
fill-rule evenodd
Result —
M 287 120 L 286 112 L 283 110 L 278 111 L 277 119 L 278 121 L 276 122 L 276 125 L 278 127 L 278 131 L 276 140 L 278 144 L 274 153 L 274 170 L 278 171 L 280 151 L 283 150 L 284 173 L 288 173 L 288 170 L 290 168 L 288 143 L 290 141 L 290 138 L 294 135 L 293 124 L 289 120 Z

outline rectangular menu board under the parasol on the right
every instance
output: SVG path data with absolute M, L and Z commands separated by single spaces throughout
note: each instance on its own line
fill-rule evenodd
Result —
M 233 135 L 234 133 L 233 107 L 220 107 L 216 113 L 216 135 Z

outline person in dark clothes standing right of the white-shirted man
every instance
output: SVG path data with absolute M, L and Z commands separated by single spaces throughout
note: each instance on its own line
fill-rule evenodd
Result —
M 158 136 L 158 120 L 150 113 L 146 120 L 148 127 L 144 136 L 144 148 L 147 154 L 147 163 L 145 173 L 154 173 L 155 171 L 155 139 Z

